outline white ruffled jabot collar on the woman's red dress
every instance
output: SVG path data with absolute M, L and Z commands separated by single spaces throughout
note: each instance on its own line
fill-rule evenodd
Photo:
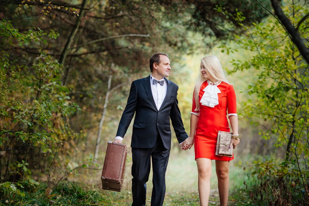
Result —
M 218 93 L 221 93 L 218 86 L 221 82 L 212 83 L 207 80 L 208 85 L 203 89 L 204 94 L 200 103 L 207 107 L 214 107 L 219 104 Z

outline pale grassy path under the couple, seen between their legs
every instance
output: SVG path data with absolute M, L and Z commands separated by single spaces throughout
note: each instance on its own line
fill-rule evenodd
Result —
M 130 154 L 128 154 L 130 156 Z M 233 165 L 231 167 L 234 170 Z M 235 171 L 236 173 L 238 171 Z M 241 180 L 235 182 L 237 174 L 231 174 L 233 178 L 231 187 L 242 184 Z M 132 203 L 131 197 L 131 162 L 127 162 L 125 180 L 121 192 L 103 191 L 109 193 L 111 199 L 115 201 L 114 205 L 130 206 Z M 231 178 L 230 178 L 231 179 Z M 147 197 L 146 205 L 150 205 L 151 189 L 152 189 L 152 174 L 150 174 L 147 182 Z M 99 185 L 100 187 L 100 185 Z M 235 192 L 235 189 L 230 193 Z M 243 205 L 234 204 L 233 197 L 229 200 L 229 205 Z M 166 195 L 163 206 L 199 206 L 199 197 L 197 189 L 197 166 L 194 160 L 194 151 L 179 151 L 170 156 L 167 173 L 166 173 Z M 213 171 L 211 177 L 211 194 L 210 206 L 219 206 L 220 200 L 218 195 L 218 182 L 215 173 L 215 164 L 213 161 Z

